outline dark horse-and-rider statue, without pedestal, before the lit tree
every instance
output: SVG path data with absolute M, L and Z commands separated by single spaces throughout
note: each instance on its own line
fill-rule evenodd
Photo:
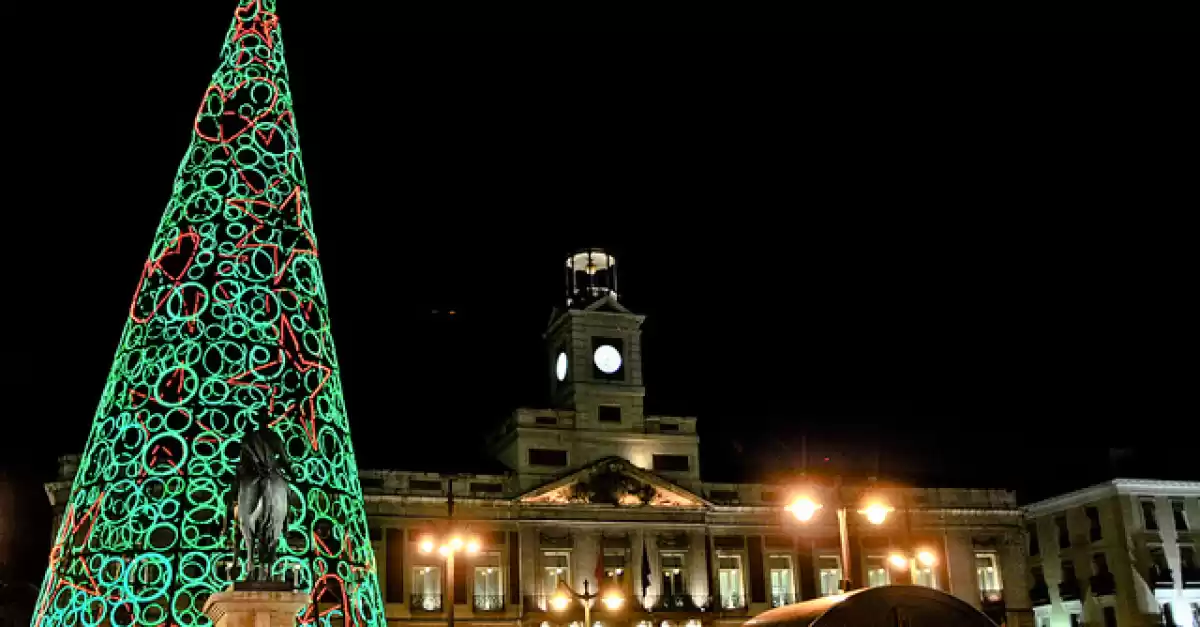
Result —
M 247 432 L 238 460 L 238 524 L 246 543 L 247 580 L 266 581 L 271 577 L 288 516 L 288 484 L 293 480 L 283 440 L 263 425 Z

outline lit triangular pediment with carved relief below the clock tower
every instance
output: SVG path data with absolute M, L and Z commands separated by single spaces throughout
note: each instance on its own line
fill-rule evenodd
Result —
M 623 458 L 605 458 L 517 498 L 530 504 L 708 507 L 708 501 Z

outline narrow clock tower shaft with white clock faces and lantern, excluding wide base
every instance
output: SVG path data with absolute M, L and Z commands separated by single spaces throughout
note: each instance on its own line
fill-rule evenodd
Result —
M 584 429 L 641 429 L 642 322 L 617 294 L 617 258 L 578 251 L 564 268 L 565 307 L 546 329 L 547 378 L 557 408 L 571 410 Z

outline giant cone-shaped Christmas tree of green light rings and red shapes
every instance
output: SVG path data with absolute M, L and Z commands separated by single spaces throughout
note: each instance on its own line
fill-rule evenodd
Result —
M 298 620 L 383 625 L 275 0 L 240 0 L 96 411 L 34 625 L 204 626 L 246 577 L 239 442 L 296 484 L 277 579 Z

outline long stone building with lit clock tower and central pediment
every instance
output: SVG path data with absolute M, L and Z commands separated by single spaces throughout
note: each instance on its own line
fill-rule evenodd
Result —
M 1027 577 L 1058 571 L 1031 568 L 1014 492 L 707 482 L 696 418 L 643 411 L 644 318 L 618 298 L 616 259 L 582 251 L 564 275 L 545 372 L 530 372 L 552 406 L 516 410 L 490 438 L 506 472 L 360 470 L 390 625 L 582 627 L 570 589 L 601 595 L 595 627 L 734 626 L 847 586 L 916 584 L 1034 626 Z M 65 458 L 47 485 L 59 508 L 73 472 Z

